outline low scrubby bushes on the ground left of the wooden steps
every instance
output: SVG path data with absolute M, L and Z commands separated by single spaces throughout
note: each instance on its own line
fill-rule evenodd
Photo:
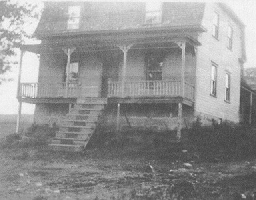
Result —
M 0 141 L 0 148 L 27 148 L 34 146 L 47 145 L 50 138 L 55 136 L 56 128 L 50 128 L 48 125 L 32 124 L 25 136 L 22 134 L 10 134 Z

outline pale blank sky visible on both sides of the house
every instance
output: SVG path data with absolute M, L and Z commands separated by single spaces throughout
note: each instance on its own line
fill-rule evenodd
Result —
M 102 0 L 101 0 L 102 1 Z M 118 0 L 120 1 L 120 0 Z M 125 1 L 125 0 L 121 0 Z M 137 0 L 133 0 L 137 1 Z M 179 0 L 176 0 L 178 2 Z M 187 0 L 195 2 L 193 0 Z M 201 1 L 200 2 L 206 2 Z M 184 1 L 182 1 L 184 2 Z M 210 1 L 207 1 L 210 2 Z M 212 1 L 214 2 L 214 1 Z M 256 67 L 256 0 L 222 0 L 234 10 L 240 19 L 246 25 L 246 54 L 247 62 L 245 67 Z M 22 69 L 22 82 L 37 82 L 38 75 L 38 59 L 33 54 L 25 54 L 23 69 Z M 8 77 L 13 78 L 14 81 L 6 82 L 0 85 L 0 114 L 17 114 L 18 101 L 16 99 L 17 90 L 17 77 L 18 66 L 8 73 Z M 23 114 L 33 114 L 34 105 L 22 104 Z

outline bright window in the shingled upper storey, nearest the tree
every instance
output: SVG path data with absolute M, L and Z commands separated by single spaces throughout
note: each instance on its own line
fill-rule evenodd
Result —
M 78 29 L 80 24 L 80 6 L 68 6 L 68 29 Z

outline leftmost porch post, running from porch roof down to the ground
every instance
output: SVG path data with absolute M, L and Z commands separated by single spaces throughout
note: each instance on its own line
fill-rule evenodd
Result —
M 19 63 L 19 72 L 18 72 L 18 86 L 17 86 L 17 98 L 19 101 L 19 107 L 18 107 L 18 116 L 17 116 L 17 123 L 16 123 L 16 133 L 19 133 L 20 128 L 20 118 L 21 118 L 21 106 L 22 101 L 20 99 L 20 80 L 21 80 L 21 69 L 22 69 L 22 59 L 24 56 L 24 51 L 20 51 L 20 63 Z

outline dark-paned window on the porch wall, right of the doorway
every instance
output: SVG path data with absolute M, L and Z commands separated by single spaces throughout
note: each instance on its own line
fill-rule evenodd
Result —
M 146 65 L 147 80 L 162 80 L 163 61 L 160 56 L 149 56 Z

